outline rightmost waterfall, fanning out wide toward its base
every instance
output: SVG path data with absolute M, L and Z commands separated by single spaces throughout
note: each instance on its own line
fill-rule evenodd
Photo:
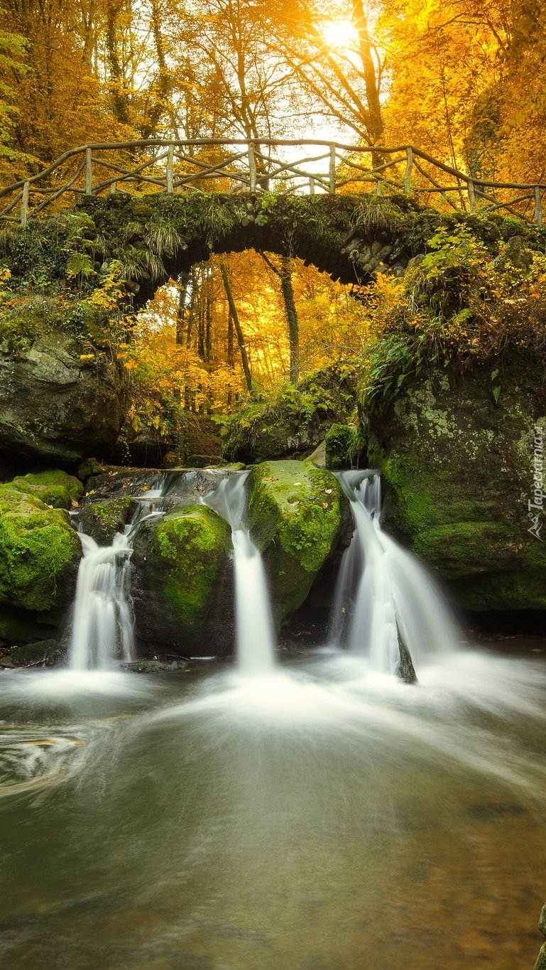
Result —
M 413 663 L 457 648 L 449 609 L 426 570 L 381 530 L 381 480 L 372 470 L 338 473 L 356 532 L 335 594 L 332 639 L 369 658 L 373 670 L 414 679 Z

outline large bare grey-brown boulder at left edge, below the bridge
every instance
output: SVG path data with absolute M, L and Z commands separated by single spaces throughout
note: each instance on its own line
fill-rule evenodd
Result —
M 0 343 L 0 450 L 61 463 L 108 453 L 126 412 L 116 361 L 60 334 Z

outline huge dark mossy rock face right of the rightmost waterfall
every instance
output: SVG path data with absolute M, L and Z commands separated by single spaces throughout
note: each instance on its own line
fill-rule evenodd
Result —
M 530 533 L 528 507 L 545 390 L 542 369 L 520 356 L 457 382 L 429 375 L 388 412 L 367 415 L 385 528 L 464 608 L 546 608 L 546 543 Z

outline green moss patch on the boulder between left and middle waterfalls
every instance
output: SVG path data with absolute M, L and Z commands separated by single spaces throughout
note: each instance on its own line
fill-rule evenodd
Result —
M 159 523 L 151 543 L 152 582 L 182 623 L 202 619 L 231 550 L 231 530 L 206 505 L 188 505 Z

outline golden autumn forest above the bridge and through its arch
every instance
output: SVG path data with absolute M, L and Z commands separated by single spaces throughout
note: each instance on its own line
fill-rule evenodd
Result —
M 0 15 L 0 178 L 5 185 L 30 178 L 87 143 L 239 137 L 377 146 L 376 164 L 385 158 L 380 146 L 412 145 L 477 183 L 540 183 L 546 178 L 545 17 L 539 2 L 508 0 L 6 0 Z M 133 152 L 133 165 L 143 154 L 142 147 Z M 289 179 L 275 191 L 283 189 L 290 192 Z M 363 183 L 357 190 L 373 188 Z M 443 195 L 423 193 L 418 201 L 454 208 Z M 66 204 L 61 199 L 57 208 Z M 465 200 L 455 208 L 465 210 Z M 529 200 L 502 214 L 510 211 L 532 218 Z M 4 226 L 0 245 L 9 257 L 15 230 Z M 308 382 L 299 398 L 290 391 L 308 374 L 333 364 L 356 367 L 371 372 L 373 384 L 385 355 L 388 363 L 406 353 L 398 344 L 377 350 L 389 329 L 400 330 L 404 314 L 411 338 L 426 336 L 427 349 L 419 344 L 423 359 L 438 352 L 473 359 L 477 344 L 482 356 L 495 354 L 507 332 L 510 339 L 541 343 L 541 254 L 535 252 L 523 273 L 511 264 L 505 271 L 479 232 L 478 238 L 467 232 L 440 227 L 425 279 L 416 285 L 434 284 L 443 296 L 437 293 L 435 303 L 422 299 L 417 313 L 407 310 L 413 299 L 407 280 L 379 272 L 359 292 L 356 278 L 351 287 L 290 252 L 251 248 L 212 253 L 157 289 L 137 313 L 126 299 L 124 277 L 131 270 L 122 259 L 105 296 L 109 321 L 98 329 L 130 383 L 128 435 L 142 436 L 146 428 L 163 457 L 179 457 L 177 429 L 183 425 L 186 452 L 210 454 L 218 451 L 211 442 L 226 421 L 224 436 L 233 438 L 229 416 L 249 403 L 274 407 L 288 395 L 288 406 L 301 411 L 317 404 L 316 395 L 309 399 Z M 127 242 L 134 251 L 134 241 Z M 88 253 L 96 260 L 96 242 L 86 243 L 80 228 L 65 246 L 71 255 L 61 287 L 71 279 L 80 291 L 94 286 Z M 460 265 L 447 271 L 452 260 Z M 9 258 L 4 265 L 9 274 Z M 468 292 L 456 307 L 445 307 L 449 283 L 436 285 L 445 272 L 468 276 Z M 42 286 L 39 276 L 34 290 L 50 296 L 48 274 Z M 509 312 L 522 282 L 532 331 L 523 338 L 521 324 L 514 335 Z M 6 278 L 3 300 L 13 316 L 17 301 L 28 297 Z M 96 331 L 90 326 L 85 337 L 94 344 L 82 345 L 82 356 L 97 352 Z M 348 419 L 357 428 L 356 414 Z M 236 451 L 232 446 L 228 457 Z

